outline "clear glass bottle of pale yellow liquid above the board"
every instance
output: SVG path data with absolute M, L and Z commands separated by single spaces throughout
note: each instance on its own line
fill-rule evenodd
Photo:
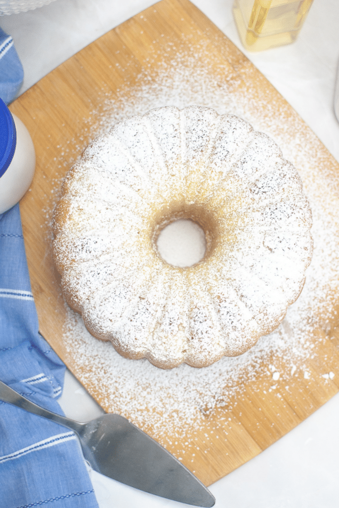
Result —
M 233 16 L 242 44 L 262 51 L 294 42 L 313 0 L 235 0 Z

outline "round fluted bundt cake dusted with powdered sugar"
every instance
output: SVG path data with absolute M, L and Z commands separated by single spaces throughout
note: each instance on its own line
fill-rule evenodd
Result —
M 189 218 L 203 260 L 164 262 L 159 232 Z M 54 212 L 67 303 L 127 358 L 172 368 L 237 356 L 302 290 L 312 215 L 296 169 L 265 134 L 210 108 L 120 121 L 70 170 Z

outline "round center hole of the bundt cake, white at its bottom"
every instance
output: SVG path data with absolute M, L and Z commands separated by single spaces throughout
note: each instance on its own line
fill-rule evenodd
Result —
M 166 263 L 187 268 L 199 263 L 205 256 L 205 233 L 192 220 L 179 219 L 160 232 L 157 248 Z

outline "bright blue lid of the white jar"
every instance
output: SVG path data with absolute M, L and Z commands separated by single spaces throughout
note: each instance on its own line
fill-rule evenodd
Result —
M 16 147 L 16 129 L 10 110 L 0 99 L 0 178 L 3 176 L 12 158 Z

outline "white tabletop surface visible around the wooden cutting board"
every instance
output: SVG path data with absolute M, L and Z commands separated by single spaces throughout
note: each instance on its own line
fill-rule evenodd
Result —
M 194 0 L 240 48 L 232 0 Z M 152 5 L 150 0 L 55 0 L 50 5 L 0 18 L 14 37 L 25 70 L 24 91 L 110 28 Z M 339 58 L 339 2 L 314 0 L 296 43 L 245 54 L 283 94 L 339 160 L 334 88 Z M 339 375 L 339 372 L 337 373 Z M 88 420 L 101 408 L 68 372 L 61 405 Z M 216 507 L 337 508 L 339 505 L 339 395 L 268 450 L 215 483 Z M 100 508 L 161 508 L 162 500 L 92 473 Z M 183 505 L 181 505 L 183 506 Z

